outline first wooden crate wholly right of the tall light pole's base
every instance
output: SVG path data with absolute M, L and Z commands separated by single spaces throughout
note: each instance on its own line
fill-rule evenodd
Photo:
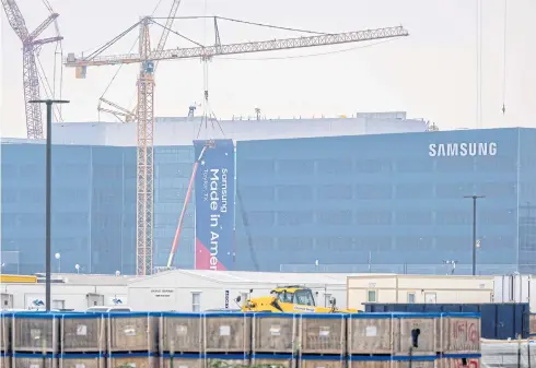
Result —
M 60 314 L 59 368 L 105 368 L 106 314 Z

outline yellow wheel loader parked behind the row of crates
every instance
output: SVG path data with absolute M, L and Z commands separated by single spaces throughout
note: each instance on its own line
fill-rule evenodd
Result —
M 240 305 L 241 297 L 236 302 Z M 313 292 L 304 286 L 282 286 L 270 292 L 270 296 L 247 299 L 242 306 L 243 312 L 275 312 L 275 313 L 356 313 L 357 309 L 338 309 L 335 298 L 330 307 L 315 306 Z

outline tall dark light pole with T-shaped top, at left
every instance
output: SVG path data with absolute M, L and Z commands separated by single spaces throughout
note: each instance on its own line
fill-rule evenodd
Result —
M 45 294 L 46 311 L 50 311 L 50 198 L 51 198 L 51 152 L 53 152 L 53 105 L 54 104 L 69 104 L 68 100 L 62 99 L 32 99 L 31 104 L 46 104 L 47 105 L 47 153 L 46 153 L 46 204 L 45 204 L 45 218 L 46 218 L 46 235 L 45 235 Z

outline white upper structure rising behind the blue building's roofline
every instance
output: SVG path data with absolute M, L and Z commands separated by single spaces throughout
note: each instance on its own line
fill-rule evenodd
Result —
M 362 112 L 347 118 L 240 119 L 209 121 L 201 117 L 155 119 L 154 145 L 191 145 L 196 139 L 234 141 L 423 132 L 423 119 L 406 119 L 405 112 Z M 54 124 L 54 143 L 84 145 L 136 145 L 133 122 L 65 122 Z M 5 142 L 5 140 L 3 140 Z

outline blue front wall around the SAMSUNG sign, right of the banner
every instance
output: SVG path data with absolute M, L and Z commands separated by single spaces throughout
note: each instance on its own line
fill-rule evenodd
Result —
M 375 272 L 443 273 L 443 260 L 457 260 L 468 272 L 473 204 L 463 197 L 482 193 L 479 270 L 513 271 L 517 131 L 238 142 L 236 266 L 315 271 L 318 260 L 366 272 L 370 259 Z M 431 143 L 461 142 L 494 142 L 497 155 L 429 156 Z

